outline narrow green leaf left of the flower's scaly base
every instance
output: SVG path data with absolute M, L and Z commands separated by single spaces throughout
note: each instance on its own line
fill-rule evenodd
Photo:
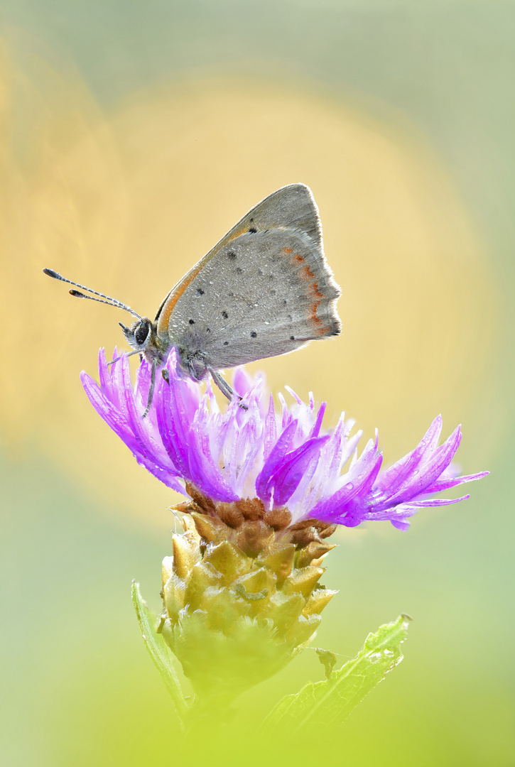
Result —
M 136 611 L 137 622 L 140 624 L 141 636 L 143 637 L 145 646 L 150 653 L 150 657 L 154 660 L 154 664 L 173 700 L 173 705 L 177 710 L 177 714 L 179 715 L 181 722 L 183 722 L 188 706 L 184 700 L 183 691 L 180 689 L 180 683 L 177 674 L 175 673 L 175 669 L 173 668 L 170 650 L 168 650 L 163 637 L 161 637 L 160 634 L 157 634 L 157 631 L 154 628 L 156 625 L 156 618 L 148 609 L 147 603 L 140 593 L 140 584 L 136 583 L 136 581 L 132 581 L 131 593 L 132 604 L 134 605 L 134 611 Z

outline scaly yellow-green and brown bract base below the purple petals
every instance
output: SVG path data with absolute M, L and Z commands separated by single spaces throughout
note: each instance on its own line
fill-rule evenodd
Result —
M 229 528 L 193 512 L 183 523 L 163 561 L 158 630 L 198 696 L 230 700 L 286 666 L 315 633 L 336 593 L 319 584 L 321 547 L 332 545 L 300 548 L 295 531 L 278 537 L 259 519 Z

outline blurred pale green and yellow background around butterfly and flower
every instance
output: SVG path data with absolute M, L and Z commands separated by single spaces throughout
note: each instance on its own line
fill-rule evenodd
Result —
M 2 763 L 188 761 L 129 591 L 135 577 L 158 606 L 175 499 L 81 392 L 97 347 L 121 342 L 117 314 L 41 268 L 151 314 L 243 212 L 303 181 L 344 333 L 253 369 L 327 398 L 331 423 L 378 426 L 387 461 L 442 412 L 445 436 L 463 423 L 464 471 L 492 473 L 408 532 L 338 533 L 315 644 L 350 657 L 399 612 L 414 621 L 342 731 L 299 745 L 328 764 L 513 765 L 513 2 L 0 11 Z M 242 696 L 235 736 L 321 675 L 305 651 Z

